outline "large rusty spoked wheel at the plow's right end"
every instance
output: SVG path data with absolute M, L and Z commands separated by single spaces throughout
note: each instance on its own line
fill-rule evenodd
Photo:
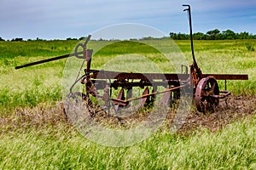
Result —
M 218 105 L 218 82 L 214 77 L 202 78 L 195 90 L 195 105 L 198 111 L 214 111 Z

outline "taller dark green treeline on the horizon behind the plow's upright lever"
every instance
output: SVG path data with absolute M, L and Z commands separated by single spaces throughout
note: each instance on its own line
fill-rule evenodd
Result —
M 170 37 L 174 40 L 189 40 L 189 34 L 170 32 Z M 249 32 L 236 33 L 231 30 L 219 31 L 218 29 L 207 31 L 207 33 L 196 32 L 193 34 L 195 40 L 232 40 L 232 39 L 256 39 L 256 35 Z

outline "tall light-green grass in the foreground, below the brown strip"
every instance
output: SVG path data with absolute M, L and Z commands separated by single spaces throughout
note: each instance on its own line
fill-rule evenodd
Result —
M 217 133 L 155 133 L 130 147 L 106 147 L 73 129 L 0 134 L 3 169 L 255 169 L 256 116 Z

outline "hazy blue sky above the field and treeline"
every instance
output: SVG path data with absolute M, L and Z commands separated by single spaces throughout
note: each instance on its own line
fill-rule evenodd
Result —
M 256 0 L 0 0 L 0 37 L 66 39 L 114 25 L 134 23 L 163 32 L 218 29 L 256 34 Z M 127 33 L 127 31 L 125 32 Z

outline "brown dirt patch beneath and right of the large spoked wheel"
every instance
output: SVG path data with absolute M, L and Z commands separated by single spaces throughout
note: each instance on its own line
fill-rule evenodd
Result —
M 198 127 L 205 127 L 211 132 L 222 129 L 231 122 L 236 122 L 243 117 L 252 116 L 256 113 L 256 96 L 230 96 L 229 99 L 222 100 L 215 108 L 214 113 L 206 115 L 191 111 L 187 116 L 183 127 L 179 133 L 192 133 Z

